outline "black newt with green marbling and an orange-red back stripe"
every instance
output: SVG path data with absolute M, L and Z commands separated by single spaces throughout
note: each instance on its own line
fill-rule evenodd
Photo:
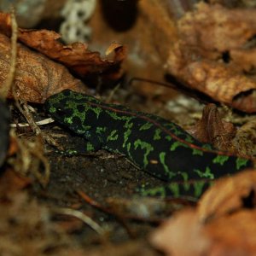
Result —
M 143 195 L 198 197 L 212 180 L 253 166 L 253 161 L 210 144 L 154 114 L 107 104 L 93 96 L 63 90 L 45 102 L 50 116 L 88 142 L 87 151 L 99 148 L 125 154 L 138 167 L 168 185 Z

